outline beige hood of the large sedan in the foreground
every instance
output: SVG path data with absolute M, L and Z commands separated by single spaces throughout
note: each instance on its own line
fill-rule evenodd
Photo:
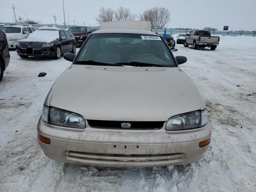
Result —
M 72 65 L 54 83 L 45 104 L 85 119 L 166 121 L 206 108 L 179 67 Z

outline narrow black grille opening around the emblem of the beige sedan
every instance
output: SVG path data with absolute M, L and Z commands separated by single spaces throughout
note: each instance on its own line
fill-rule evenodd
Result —
M 122 129 L 122 123 L 130 123 L 129 129 L 160 129 L 164 126 L 164 121 L 104 121 L 104 120 L 87 120 L 92 128 L 114 128 Z

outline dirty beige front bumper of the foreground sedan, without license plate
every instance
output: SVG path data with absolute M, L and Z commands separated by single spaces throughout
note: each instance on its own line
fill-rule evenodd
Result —
M 164 125 L 165 126 L 165 125 Z M 38 140 L 46 156 L 61 162 L 107 167 L 152 167 L 187 164 L 198 161 L 209 144 L 211 126 L 186 131 L 107 130 L 87 127 L 63 128 L 38 122 L 38 134 L 50 144 Z

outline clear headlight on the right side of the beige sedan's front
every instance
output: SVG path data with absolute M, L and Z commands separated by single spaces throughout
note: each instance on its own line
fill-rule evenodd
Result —
M 166 123 L 166 130 L 186 130 L 203 127 L 207 124 L 207 110 L 193 111 L 171 117 Z

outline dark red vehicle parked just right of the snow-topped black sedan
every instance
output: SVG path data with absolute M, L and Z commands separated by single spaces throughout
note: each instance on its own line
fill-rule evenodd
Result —
M 72 26 L 68 29 L 68 32 L 72 33 L 76 38 L 76 44 L 82 45 L 89 34 L 93 32 L 89 26 Z

